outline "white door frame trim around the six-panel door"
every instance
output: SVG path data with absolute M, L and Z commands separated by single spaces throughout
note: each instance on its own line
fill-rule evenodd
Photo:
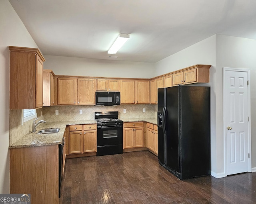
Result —
M 225 177 L 227 176 L 227 158 L 226 158 L 226 89 L 225 89 L 225 78 L 226 78 L 226 71 L 237 71 L 237 72 L 246 72 L 249 80 L 248 88 L 248 152 L 250 154 L 250 158 L 248 158 L 248 172 L 252 172 L 252 141 L 251 141 L 251 73 L 250 69 L 240 69 L 240 68 L 230 68 L 230 67 L 223 67 L 222 68 L 222 95 L 223 95 L 223 139 L 224 139 L 224 174 Z

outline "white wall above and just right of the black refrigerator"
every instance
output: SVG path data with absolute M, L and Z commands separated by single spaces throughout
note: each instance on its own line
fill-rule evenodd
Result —
M 155 75 L 162 75 L 196 64 L 212 65 L 210 68 L 210 83 L 200 84 L 210 86 L 210 114 L 211 114 L 211 166 L 212 175 L 217 173 L 216 154 L 216 35 L 204 39 L 178 53 L 175 53 L 155 63 Z M 197 84 L 198 85 L 198 84 Z

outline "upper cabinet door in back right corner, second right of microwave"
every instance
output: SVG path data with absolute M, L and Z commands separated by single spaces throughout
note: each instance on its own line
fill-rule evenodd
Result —
M 149 104 L 150 103 L 150 84 L 149 81 L 136 81 L 136 103 Z

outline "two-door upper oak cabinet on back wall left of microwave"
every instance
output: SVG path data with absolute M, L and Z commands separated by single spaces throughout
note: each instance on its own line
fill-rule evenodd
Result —
M 96 79 L 58 77 L 58 105 L 94 105 Z

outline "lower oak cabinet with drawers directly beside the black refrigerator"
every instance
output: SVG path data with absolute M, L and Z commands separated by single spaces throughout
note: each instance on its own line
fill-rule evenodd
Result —
M 158 155 L 158 127 L 151 123 L 147 123 L 147 147 Z

